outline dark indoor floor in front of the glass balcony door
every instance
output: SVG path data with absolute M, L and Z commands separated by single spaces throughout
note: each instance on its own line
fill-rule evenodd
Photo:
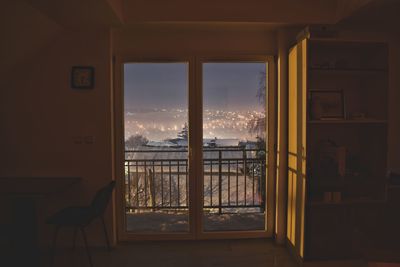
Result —
M 95 267 L 295 267 L 272 240 L 157 241 L 119 245 L 111 252 L 92 248 Z M 45 260 L 48 266 L 49 261 Z M 54 266 L 89 266 L 85 251 L 59 249 Z

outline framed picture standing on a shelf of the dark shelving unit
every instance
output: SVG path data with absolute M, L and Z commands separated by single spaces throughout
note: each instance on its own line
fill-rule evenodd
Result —
M 310 104 L 310 117 L 312 120 L 345 118 L 342 90 L 311 90 Z

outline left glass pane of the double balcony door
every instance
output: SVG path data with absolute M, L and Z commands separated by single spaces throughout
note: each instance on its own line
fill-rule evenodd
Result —
M 189 64 L 125 63 L 125 231 L 189 232 Z

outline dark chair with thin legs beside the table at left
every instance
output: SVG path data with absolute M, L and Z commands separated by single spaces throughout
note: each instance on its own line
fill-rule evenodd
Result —
M 89 251 L 85 228 L 93 220 L 100 218 L 103 224 L 107 248 L 108 250 L 110 250 L 110 241 L 108 239 L 107 229 L 104 222 L 104 211 L 106 210 L 108 202 L 110 201 L 114 187 L 115 187 L 115 181 L 112 181 L 108 185 L 97 191 L 96 195 L 94 196 L 89 206 L 67 207 L 58 211 L 47 220 L 48 224 L 55 225 L 56 227 L 53 237 L 53 252 L 51 258 L 51 265 L 53 265 L 54 263 L 57 235 L 61 227 L 74 228 L 73 249 L 75 249 L 75 241 L 78 229 L 81 231 L 83 241 L 85 243 L 86 253 L 89 259 L 89 264 L 91 267 L 93 267 L 92 257 Z

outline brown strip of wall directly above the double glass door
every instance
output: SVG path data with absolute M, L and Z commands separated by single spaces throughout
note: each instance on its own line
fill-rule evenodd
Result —
M 276 34 L 258 24 L 140 24 L 115 31 L 114 53 L 125 59 L 275 55 Z

